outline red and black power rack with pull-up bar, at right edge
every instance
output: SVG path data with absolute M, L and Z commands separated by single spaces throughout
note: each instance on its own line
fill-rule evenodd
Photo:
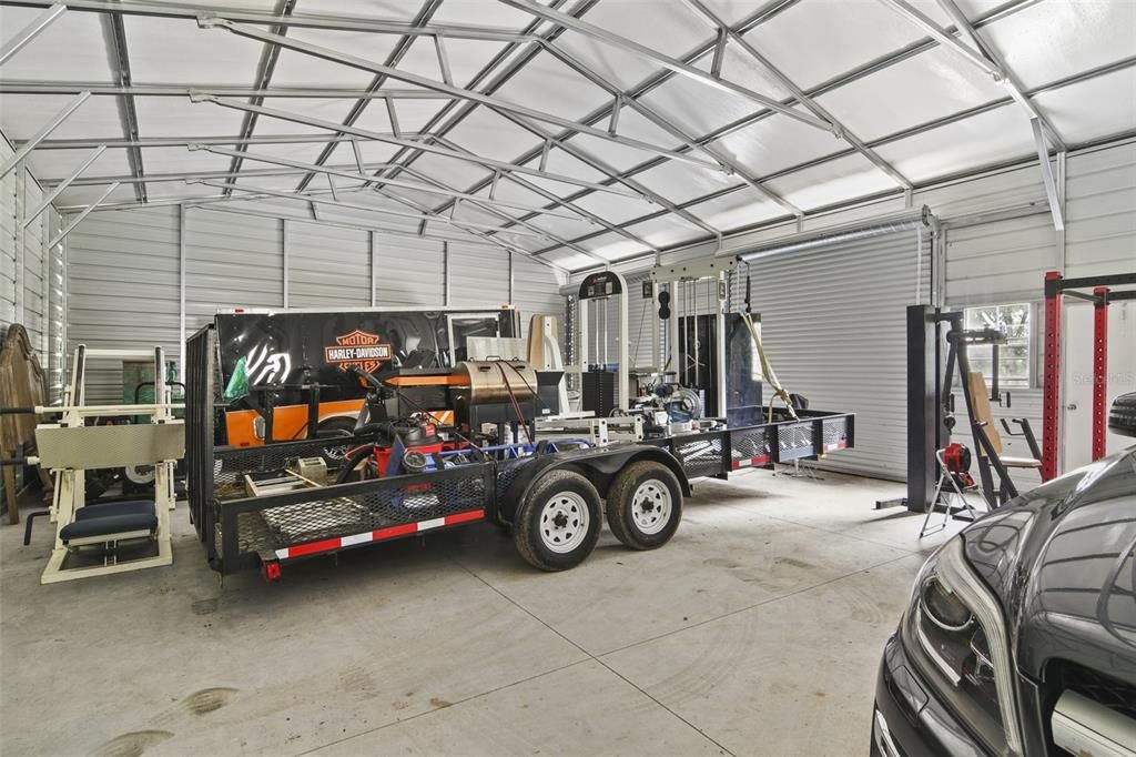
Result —
M 1093 459 L 1104 457 L 1108 411 L 1109 303 L 1136 300 L 1136 290 L 1112 291 L 1136 284 L 1136 273 L 1066 278 L 1060 271 L 1045 274 L 1044 377 L 1042 390 L 1042 481 L 1058 474 L 1061 405 L 1061 301 L 1068 294 L 1093 303 Z M 1092 289 L 1089 294 L 1084 291 Z

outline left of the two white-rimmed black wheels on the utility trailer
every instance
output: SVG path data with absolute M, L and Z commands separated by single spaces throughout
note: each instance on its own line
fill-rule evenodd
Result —
M 543 475 L 517 508 L 512 541 L 526 563 L 565 571 L 584 561 L 600 539 L 600 493 L 571 471 Z

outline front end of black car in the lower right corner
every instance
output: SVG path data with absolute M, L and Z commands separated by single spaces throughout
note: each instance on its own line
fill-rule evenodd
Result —
M 944 544 L 888 640 L 874 755 L 1136 754 L 1136 447 Z

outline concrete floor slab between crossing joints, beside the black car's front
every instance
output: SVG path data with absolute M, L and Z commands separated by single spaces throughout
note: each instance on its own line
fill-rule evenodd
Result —
M 863 755 L 879 652 L 921 564 L 903 557 L 602 659 L 735 755 Z

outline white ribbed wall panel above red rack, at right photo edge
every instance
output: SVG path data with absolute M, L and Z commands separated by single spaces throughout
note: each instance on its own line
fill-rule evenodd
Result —
M 1067 164 L 1066 275 L 1136 269 L 1136 144 Z

